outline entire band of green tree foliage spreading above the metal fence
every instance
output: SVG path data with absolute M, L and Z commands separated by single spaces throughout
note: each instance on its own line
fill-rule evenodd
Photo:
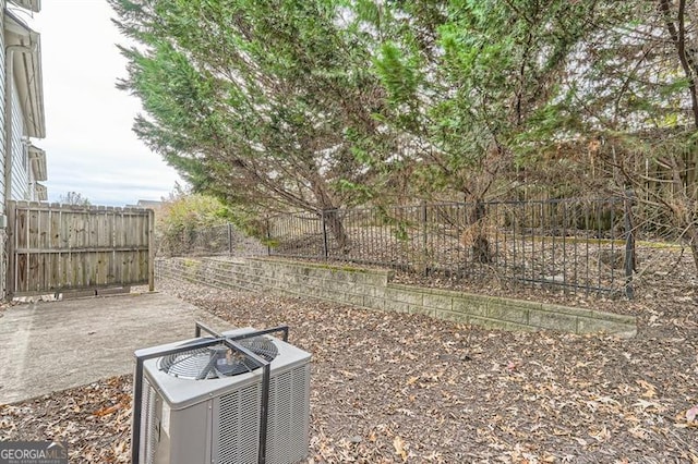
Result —
M 121 83 L 144 103 L 135 131 L 246 224 L 598 192 L 612 182 L 579 155 L 609 145 L 590 142 L 646 156 L 652 130 L 698 118 L 695 0 L 109 1 L 139 44 Z

